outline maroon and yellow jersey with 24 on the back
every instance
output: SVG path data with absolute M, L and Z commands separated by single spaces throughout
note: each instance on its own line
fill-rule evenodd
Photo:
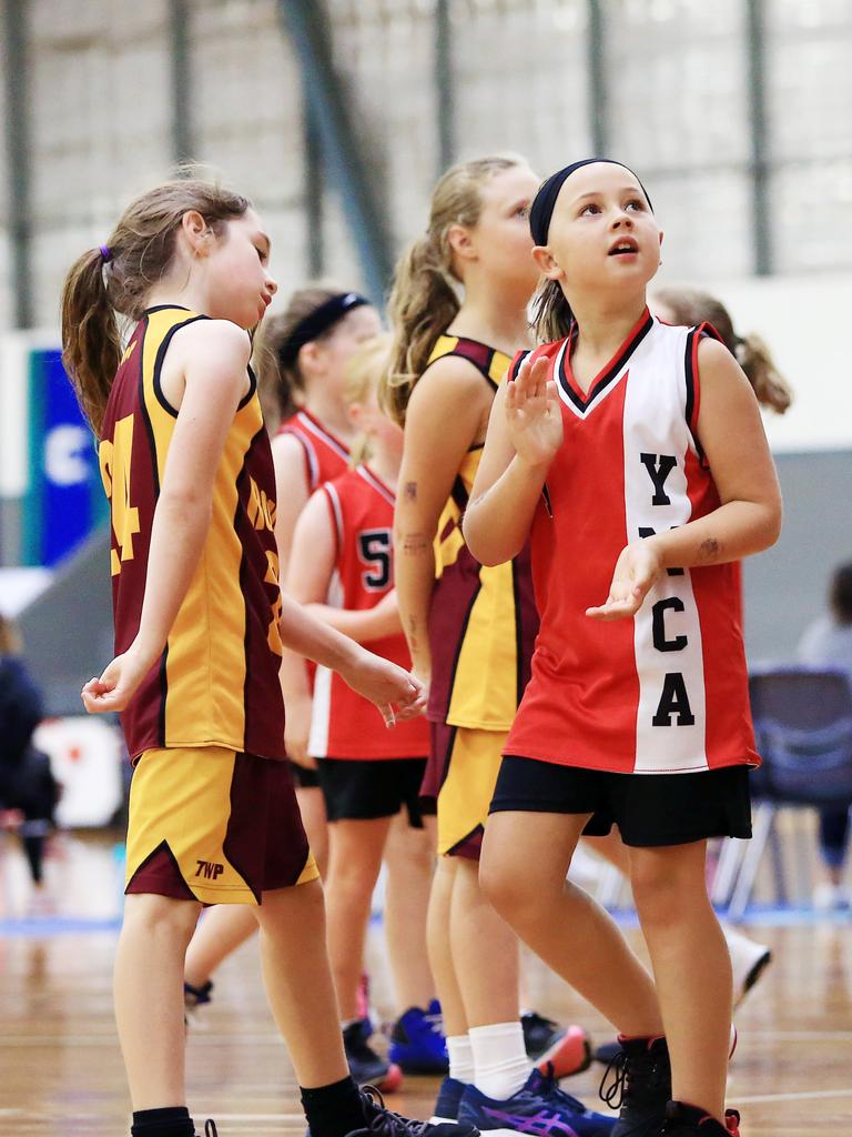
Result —
M 177 421 L 160 384 L 162 363 L 175 332 L 204 318 L 149 308 L 107 402 L 99 457 L 111 512 L 116 654 L 139 631 L 151 525 Z M 285 756 L 275 474 L 251 368 L 249 381 L 216 471 L 194 575 L 162 655 L 122 714 L 132 758 L 154 747 L 203 746 Z

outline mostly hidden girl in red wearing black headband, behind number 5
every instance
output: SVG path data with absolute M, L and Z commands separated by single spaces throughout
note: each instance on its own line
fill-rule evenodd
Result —
M 357 292 L 308 285 L 295 291 L 283 313 L 264 329 L 265 363 L 260 387 L 265 414 L 281 420 L 272 439 L 277 513 L 275 538 L 281 579 L 286 575 L 293 528 L 316 488 L 343 473 L 356 430 L 342 399 L 343 367 L 364 340 L 381 329 L 376 309 Z M 278 414 L 275 414 L 275 412 Z M 296 800 L 320 874 L 326 864 L 323 795 L 306 754 L 310 725 L 312 666 L 290 652 L 282 659 L 287 706 L 285 745 Z M 307 763 L 307 764 L 306 764 Z M 208 912 L 186 953 L 186 1007 L 210 1001 L 211 977 L 257 930 L 250 912 L 218 907 Z

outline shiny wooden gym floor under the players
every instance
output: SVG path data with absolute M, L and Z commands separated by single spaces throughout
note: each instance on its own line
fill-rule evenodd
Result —
M 128 1102 L 110 993 L 117 861 L 102 838 L 62 838 L 48 895 L 34 902 L 12 845 L 0 849 L 0 1137 L 124 1137 Z M 782 914 L 753 935 L 775 961 L 737 1014 L 728 1101 L 743 1113 L 743 1137 L 852 1134 L 852 928 Z M 376 929 L 369 955 L 374 1004 L 390 1018 Z M 598 1040 L 611 1037 L 537 961 L 527 974 L 537 1010 L 585 1024 Z M 254 944 L 223 968 L 206 1010 L 187 1059 L 199 1131 L 210 1117 L 220 1137 L 301 1137 L 296 1086 L 266 1007 Z M 595 1065 L 563 1086 L 591 1104 L 601 1073 Z M 409 1078 L 393 1107 L 426 1117 L 436 1086 Z

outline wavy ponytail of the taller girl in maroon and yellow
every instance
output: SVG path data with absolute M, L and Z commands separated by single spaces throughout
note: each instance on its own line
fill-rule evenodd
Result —
M 414 241 L 396 265 L 387 300 L 391 366 L 379 388 L 382 409 L 402 425 L 415 383 L 426 370 L 441 333 L 456 318 L 459 297 L 431 234 Z

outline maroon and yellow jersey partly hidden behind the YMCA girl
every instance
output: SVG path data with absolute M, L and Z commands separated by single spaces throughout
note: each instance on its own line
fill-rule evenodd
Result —
M 454 335 L 440 337 L 429 363 L 445 356 L 467 359 L 494 391 L 510 363 L 496 348 Z M 482 449 L 476 446 L 465 455 L 435 539 L 428 717 L 451 727 L 504 731 L 529 679 L 538 616 L 528 548 L 507 564 L 486 567 L 465 543 L 461 517 Z

